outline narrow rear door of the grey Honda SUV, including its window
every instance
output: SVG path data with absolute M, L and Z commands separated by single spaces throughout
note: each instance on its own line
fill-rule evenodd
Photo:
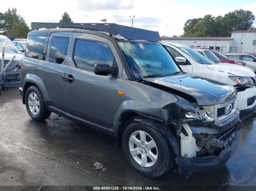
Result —
M 51 33 L 43 66 L 43 81 L 48 95 L 53 105 L 63 110 L 66 110 L 63 76 L 72 36 L 73 32 Z

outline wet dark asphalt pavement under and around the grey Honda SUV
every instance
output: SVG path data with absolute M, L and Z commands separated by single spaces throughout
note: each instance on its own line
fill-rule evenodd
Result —
M 219 170 L 187 178 L 174 164 L 149 179 L 126 163 L 115 138 L 54 113 L 45 122 L 32 121 L 18 87 L 5 88 L 0 96 L 0 186 L 256 186 L 255 126 L 256 116 L 242 120 L 238 148 Z M 96 171 L 95 162 L 108 170 Z

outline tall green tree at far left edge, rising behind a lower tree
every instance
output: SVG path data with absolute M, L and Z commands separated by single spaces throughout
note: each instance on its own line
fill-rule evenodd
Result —
M 18 14 L 16 8 L 9 9 L 5 13 L 0 13 L 0 31 L 7 31 L 12 28 L 12 25 L 17 21 L 25 23 L 25 20 Z

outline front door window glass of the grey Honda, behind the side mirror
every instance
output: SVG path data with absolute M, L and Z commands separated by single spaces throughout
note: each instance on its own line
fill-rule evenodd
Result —
M 76 40 L 74 60 L 78 68 L 93 71 L 95 64 L 112 66 L 113 59 L 108 45 L 88 40 Z

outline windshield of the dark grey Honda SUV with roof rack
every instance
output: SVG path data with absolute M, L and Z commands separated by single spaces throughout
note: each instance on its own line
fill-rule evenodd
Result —
M 160 44 L 118 42 L 135 78 L 171 75 L 180 69 Z

